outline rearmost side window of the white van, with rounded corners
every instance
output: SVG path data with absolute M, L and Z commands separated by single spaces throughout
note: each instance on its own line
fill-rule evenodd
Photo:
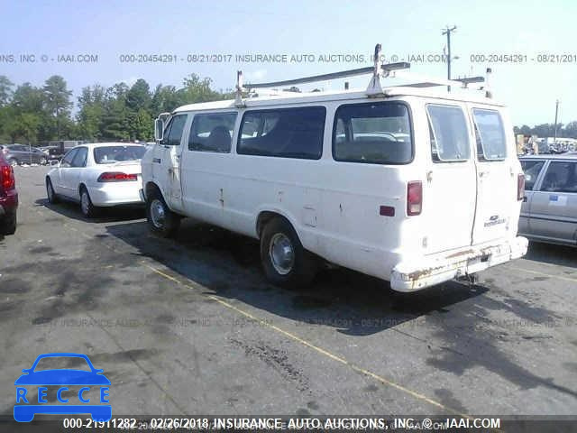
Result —
M 339 106 L 334 115 L 335 161 L 405 164 L 413 159 L 408 108 L 396 102 Z

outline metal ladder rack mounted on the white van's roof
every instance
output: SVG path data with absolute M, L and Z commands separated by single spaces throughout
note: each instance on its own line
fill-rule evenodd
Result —
M 331 79 L 337 78 L 348 78 L 348 77 L 356 77 L 359 75 L 366 75 L 371 74 L 371 81 L 369 83 L 369 87 L 367 88 L 367 96 L 368 97 L 378 97 L 383 95 L 383 89 L 380 86 L 380 78 L 387 78 L 389 77 L 391 72 L 395 72 L 397 70 L 404 70 L 410 69 L 410 63 L 406 61 L 399 61 L 396 63 L 386 63 L 382 64 L 380 62 L 380 43 L 375 46 L 375 53 L 374 53 L 374 65 L 367 68 L 358 68 L 358 69 L 348 69 L 342 70 L 339 72 L 332 72 L 328 74 L 322 75 L 314 75 L 312 77 L 304 77 L 304 78 L 294 78 L 294 79 L 287 79 L 283 81 L 272 81 L 270 83 L 257 83 L 257 84 L 246 84 L 243 85 L 243 71 L 239 70 L 236 74 L 236 99 L 235 105 L 236 106 L 244 106 L 243 102 L 243 92 L 251 92 L 257 88 L 263 89 L 271 89 L 271 88 L 279 88 L 282 86 L 294 86 L 296 84 L 304 84 L 304 83 L 314 83 L 318 81 L 327 81 Z M 490 73 L 490 69 L 487 69 L 487 73 Z M 405 74 L 403 74 L 405 75 Z M 410 76 L 408 76 L 410 77 Z M 417 81 L 414 83 L 403 84 L 399 85 L 398 87 L 409 87 L 409 88 L 431 88 L 435 86 L 447 86 L 448 88 L 456 87 L 456 88 L 468 88 L 470 84 L 473 83 L 484 83 L 485 78 L 483 77 L 469 77 L 469 78 L 455 78 L 455 79 L 438 79 L 438 78 L 425 78 L 424 80 Z M 486 96 L 490 97 L 490 91 L 488 86 L 485 85 L 484 87 L 478 88 L 480 90 L 486 91 Z M 292 94 L 294 92 L 287 92 L 287 91 L 279 91 L 275 90 L 275 95 L 287 95 Z

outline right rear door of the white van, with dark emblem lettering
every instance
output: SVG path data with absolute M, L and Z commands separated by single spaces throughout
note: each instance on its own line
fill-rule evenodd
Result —
M 471 116 L 477 151 L 477 207 L 472 244 L 482 244 L 506 237 L 509 226 L 517 226 L 519 170 L 513 165 L 517 155 L 512 128 L 506 133 L 499 110 L 471 106 Z

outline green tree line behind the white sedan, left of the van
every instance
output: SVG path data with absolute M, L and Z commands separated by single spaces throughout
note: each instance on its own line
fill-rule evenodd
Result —
M 39 143 L 55 140 L 153 140 L 153 119 L 178 106 L 232 98 L 231 92 L 211 88 L 210 78 L 191 74 L 182 88 L 159 84 L 151 90 L 142 78 L 105 88 L 82 88 L 77 111 L 64 78 L 54 75 L 41 87 L 15 86 L 0 75 L 0 143 Z

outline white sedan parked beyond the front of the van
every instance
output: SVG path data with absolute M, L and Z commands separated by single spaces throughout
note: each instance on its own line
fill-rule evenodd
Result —
M 89 143 L 69 150 L 46 175 L 48 200 L 77 201 L 85 217 L 94 217 L 97 207 L 143 204 L 139 191 L 146 149 L 133 143 Z

